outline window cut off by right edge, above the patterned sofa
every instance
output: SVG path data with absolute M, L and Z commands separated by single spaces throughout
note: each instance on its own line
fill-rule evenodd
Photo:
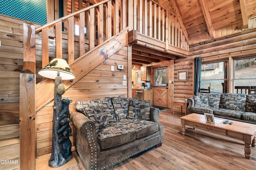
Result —
M 236 86 L 242 86 L 242 93 L 245 89 L 256 86 L 256 57 L 247 59 L 234 59 L 234 92 L 236 93 Z M 238 88 L 238 87 L 237 87 Z M 239 91 L 240 93 L 240 91 Z M 248 90 L 246 90 L 248 94 Z

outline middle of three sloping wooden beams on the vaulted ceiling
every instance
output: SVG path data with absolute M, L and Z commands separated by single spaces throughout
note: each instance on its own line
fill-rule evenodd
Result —
M 200 4 L 201 4 L 201 9 L 202 9 L 203 14 L 204 14 L 204 20 L 206 22 L 206 26 L 208 28 L 210 38 L 214 38 L 215 34 L 214 34 L 214 29 L 213 29 L 213 26 L 212 26 L 212 20 L 211 20 L 211 16 L 210 16 L 210 13 L 209 13 L 209 10 L 208 10 L 208 6 L 207 6 L 205 0 L 199 0 L 199 1 L 200 1 Z

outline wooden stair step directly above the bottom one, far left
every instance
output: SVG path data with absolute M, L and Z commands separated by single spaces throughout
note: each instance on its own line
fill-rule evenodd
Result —
M 20 137 L 20 123 L 14 121 L 0 121 L 0 139 Z

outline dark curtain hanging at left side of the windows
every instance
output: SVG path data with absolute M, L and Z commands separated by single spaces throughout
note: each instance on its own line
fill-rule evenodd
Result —
M 202 58 L 196 57 L 194 58 L 194 95 L 197 92 L 200 92 L 201 87 L 201 66 L 202 66 Z

